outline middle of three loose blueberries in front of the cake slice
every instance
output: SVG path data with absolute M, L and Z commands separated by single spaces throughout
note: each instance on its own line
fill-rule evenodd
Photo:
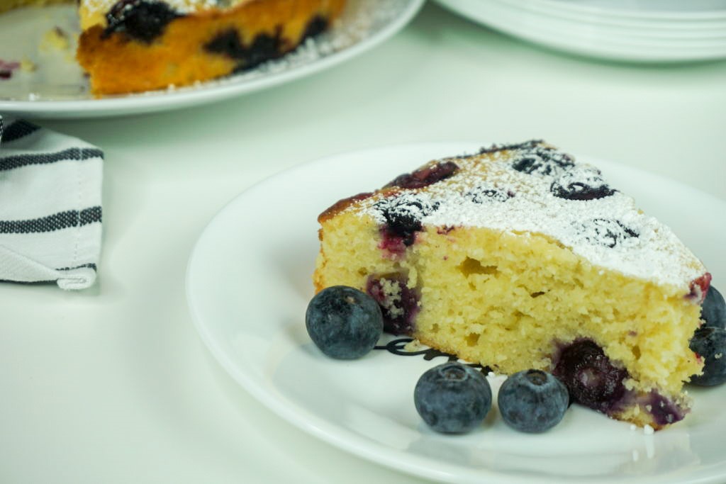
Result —
M 489 413 L 492 389 L 477 369 L 449 361 L 421 375 L 413 399 L 418 414 L 436 432 L 465 433 Z

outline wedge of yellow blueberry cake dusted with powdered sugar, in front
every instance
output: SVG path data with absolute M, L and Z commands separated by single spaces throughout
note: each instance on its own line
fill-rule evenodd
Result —
M 317 290 L 373 296 L 386 330 L 658 429 L 689 409 L 711 280 L 600 171 L 542 141 L 431 161 L 319 216 Z

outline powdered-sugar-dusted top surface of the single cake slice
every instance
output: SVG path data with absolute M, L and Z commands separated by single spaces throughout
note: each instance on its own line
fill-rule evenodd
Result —
M 689 287 L 706 272 L 673 231 L 611 188 L 592 165 L 542 141 L 435 160 L 343 210 L 379 223 L 472 226 L 544 234 L 590 263 Z

